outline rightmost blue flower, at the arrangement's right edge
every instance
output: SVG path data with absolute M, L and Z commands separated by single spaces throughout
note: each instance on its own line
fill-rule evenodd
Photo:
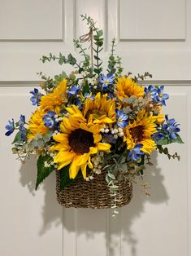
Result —
M 168 116 L 165 115 L 167 123 L 163 123 L 162 130 L 164 134 L 168 135 L 168 139 L 176 139 L 176 133 L 180 131 L 180 124 L 178 124 L 174 118 L 168 119 Z

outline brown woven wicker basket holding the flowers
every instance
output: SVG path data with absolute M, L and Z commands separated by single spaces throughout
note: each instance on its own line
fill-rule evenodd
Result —
M 106 173 L 102 172 L 91 181 L 77 179 L 72 185 L 59 191 L 59 171 L 56 171 L 56 193 L 60 205 L 66 208 L 111 208 L 112 197 L 106 183 Z M 132 199 L 132 183 L 118 183 L 117 207 L 128 205 Z

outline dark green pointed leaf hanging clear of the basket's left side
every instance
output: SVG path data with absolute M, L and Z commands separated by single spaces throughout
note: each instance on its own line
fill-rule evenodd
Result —
M 49 174 L 55 169 L 54 165 L 50 165 L 50 167 L 45 166 L 45 162 L 50 163 L 53 161 L 52 157 L 49 155 L 46 156 L 39 156 L 37 160 L 37 183 L 36 183 L 36 190 L 38 185 L 49 176 Z

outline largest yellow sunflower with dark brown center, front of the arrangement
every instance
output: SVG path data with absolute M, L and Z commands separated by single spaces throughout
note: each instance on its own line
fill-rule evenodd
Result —
M 98 151 L 110 152 L 111 145 L 101 143 L 102 135 L 98 124 L 89 126 L 72 115 L 69 118 L 63 117 L 60 128 L 62 133 L 53 136 L 57 143 L 50 148 L 59 151 L 54 157 L 54 163 L 59 164 L 58 170 L 70 165 L 70 179 L 75 179 L 79 170 L 85 179 L 87 166 L 93 168 L 91 155 Z

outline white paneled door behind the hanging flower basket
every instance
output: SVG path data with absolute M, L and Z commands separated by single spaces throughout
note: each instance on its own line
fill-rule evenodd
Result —
M 135 185 L 132 202 L 114 219 L 111 210 L 63 209 L 54 174 L 34 192 L 36 160 L 21 166 L 4 136 L 8 120 L 33 111 L 36 72 L 53 76 L 63 68 L 42 65 L 41 55 L 74 51 L 85 13 L 104 30 L 106 56 L 115 37 L 125 72 L 149 71 L 147 84 L 166 85 L 165 111 L 180 122 L 185 142 L 169 147 L 181 161 L 152 155 L 145 177 L 151 196 Z M 191 256 L 190 17 L 191 0 L 0 0 L 1 256 Z

